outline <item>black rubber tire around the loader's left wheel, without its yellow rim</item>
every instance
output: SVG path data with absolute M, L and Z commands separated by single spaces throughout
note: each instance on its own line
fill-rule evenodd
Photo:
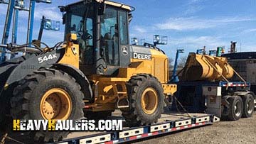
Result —
M 69 74 L 60 70 L 40 69 L 29 74 L 19 82 L 11 99 L 11 116 L 14 119 L 43 119 L 40 103 L 49 89 L 60 88 L 68 92 L 72 102 L 72 110 L 68 119 L 78 120 L 83 117 L 85 103 L 80 85 Z M 68 131 L 33 131 L 28 133 L 36 142 L 54 142 L 62 140 Z

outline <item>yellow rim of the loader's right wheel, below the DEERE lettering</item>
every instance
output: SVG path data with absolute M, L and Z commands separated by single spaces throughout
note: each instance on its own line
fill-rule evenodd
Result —
M 142 94 L 142 109 L 144 113 L 152 114 L 156 111 L 158 106 L 158 96 L 153 88 L 147 88 Z

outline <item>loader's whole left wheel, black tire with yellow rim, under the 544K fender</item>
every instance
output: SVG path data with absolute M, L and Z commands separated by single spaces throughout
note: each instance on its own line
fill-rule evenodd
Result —
M 25 120 L 78 120 L 83 116 L 83 97 L 80 85 L 69 74 L 60 70 L 40 69 L 26 76 L 14 89 L 11 116 Z M 28 135 L 35 141 L 54 142 L 62 140 L 68 133 L 31 131 Z

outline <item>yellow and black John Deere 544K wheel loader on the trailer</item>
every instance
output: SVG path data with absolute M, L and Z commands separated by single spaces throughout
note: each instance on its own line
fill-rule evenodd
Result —
M 60 6 L 66 42 L 53 48 L 6 48 L 26 55 L 0 65 L 0 123 L 11 119 L 105 118 L 121 109 L 129 126 L 160 118 L 165 96 L 176 92 L 169 60 L 159 48 L 129 45 L 132 7 L 85 0 Z M 68 132 L 29 133 L 56 141 Z

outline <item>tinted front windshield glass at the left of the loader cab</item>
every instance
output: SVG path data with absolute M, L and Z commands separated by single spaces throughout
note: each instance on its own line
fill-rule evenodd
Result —
M 89 5 L 73 5 L 67 11 L 65 34 L 75 33 L 78 37 L 80 65 L 93 63 L 93 7 Z

